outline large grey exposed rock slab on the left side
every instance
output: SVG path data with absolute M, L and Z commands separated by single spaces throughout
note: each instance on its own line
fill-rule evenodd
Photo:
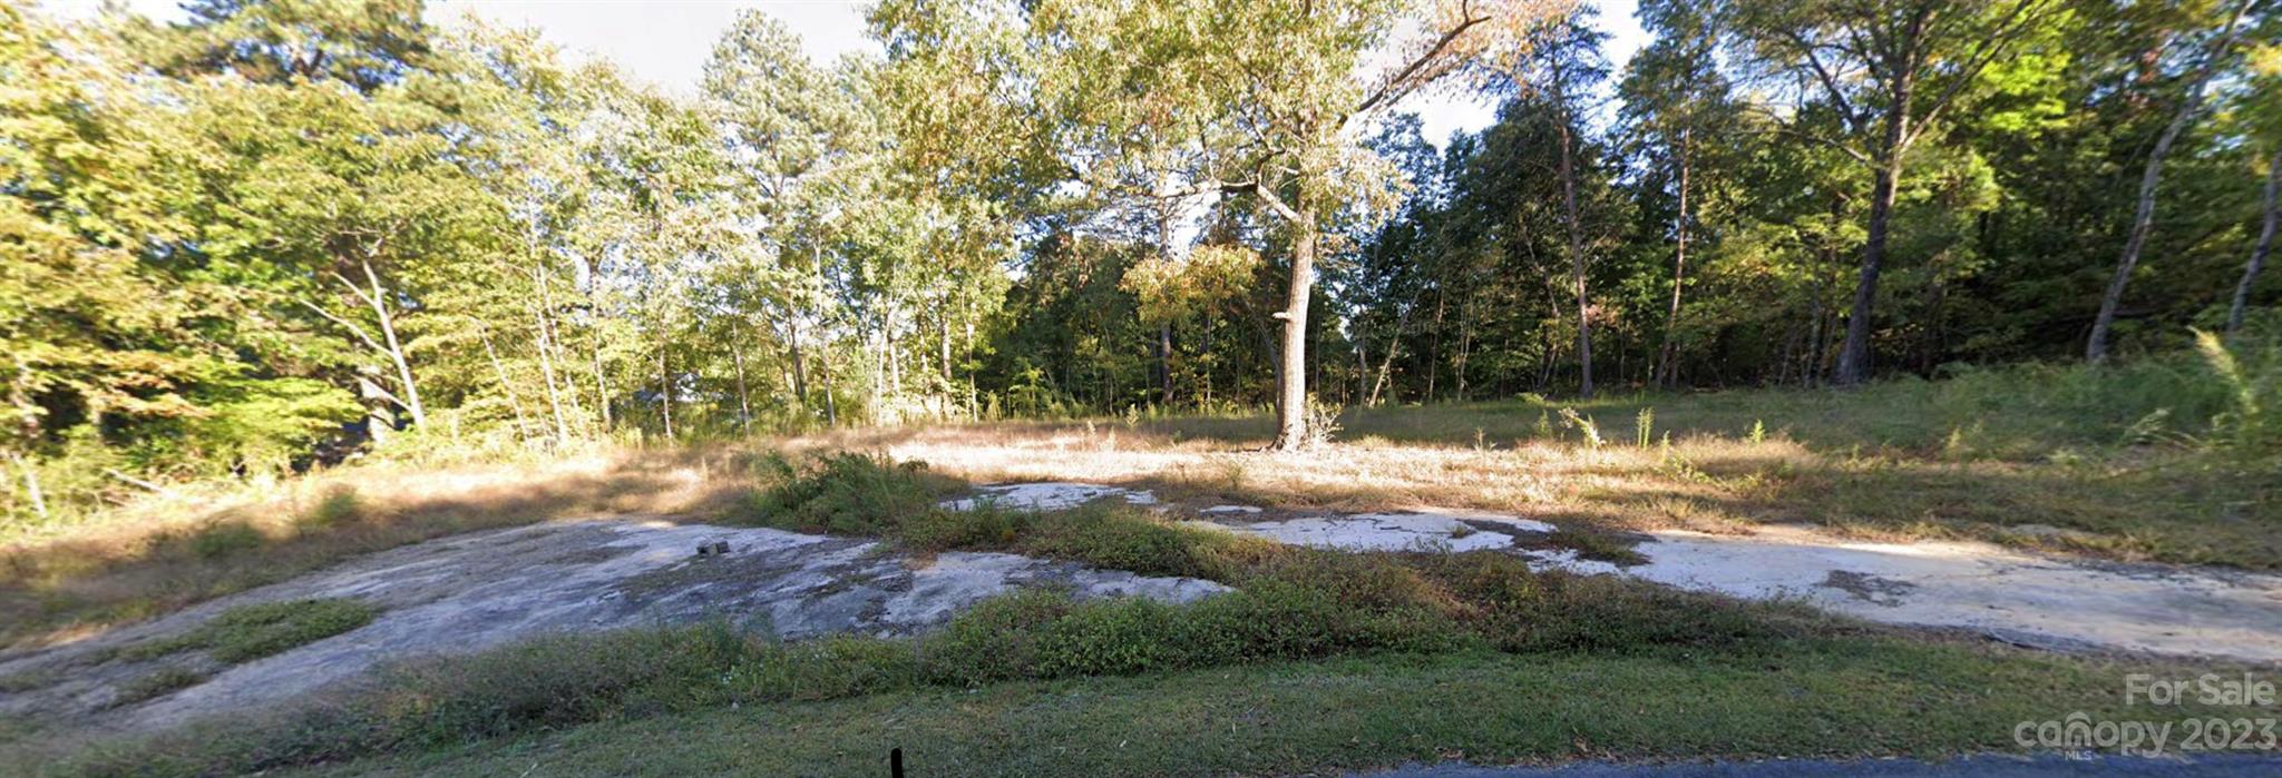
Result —
M 691 548 L 714 554 L 691 557 Z M 1020 586 L 1166 602 L 1225 591 L 1203 580 L 1015 554 L 952 552 L 915 564 L 872 541 L 778 529 L 634 518 L 552 522 L 406 545 L 80 643 L 0 655 L 0 675 L 50 680 L 0 694 L 0 714 L 162 728 L 205 712 L 283 700 L 388 659 L 475 653 L 548 632 L 703 618 L 728 618 L 787 639 L 911 634 Z M 235 605 L 299 598 L 361 598 L 383 611 L 361 630 L 219 668 L 201 684 L 141 705 L 107 707 L 119 684 L 164 662 L 116 659 L 116 648 L 192 630 Z

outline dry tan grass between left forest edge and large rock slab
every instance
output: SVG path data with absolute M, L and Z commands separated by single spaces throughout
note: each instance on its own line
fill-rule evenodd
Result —
M 0 643 L 46 646 L 333 561 L 472 529 L 605 513 L 710 516 L 748 493 L 744 452 L 625 449 L 543 463 L 340 468 L 153 495 L 0 548 Z

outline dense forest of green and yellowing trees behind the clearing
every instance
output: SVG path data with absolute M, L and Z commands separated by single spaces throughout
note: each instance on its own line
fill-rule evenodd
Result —
M 367 452 L 2275 349 L 2259 0 L 883 0 L 691 96 L 418 0 L 0 0 L 9 525 Z M 1422 96 L 1495 100 L 1431 139 Z M 1479 436 L 1479 431 L 1476 431 Z

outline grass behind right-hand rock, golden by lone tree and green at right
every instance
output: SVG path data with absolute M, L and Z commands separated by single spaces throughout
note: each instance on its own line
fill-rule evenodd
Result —
M 1191 504 L 1472 506 L 1597 532 L 1807 522 L 1862 538 L 2282 568 L 2282 433 L 2230 427 L 2230 395 L 2191 370 L 2022 365 L 1844 392 L 1351 408 L 1337 447 L 1312 456 L 1248 452 L 1273 433 L 1264 415 L 1006 422 L 835 443 L 970 481 L 1107 481 Z M 1577 424 L 1547 422 L 1563 408 L 1597 418 L 1602 431 L 1648 420 L 1650 445 L 1591 445 Z M 2271 427 L 2275 415 L 2264 418 Z

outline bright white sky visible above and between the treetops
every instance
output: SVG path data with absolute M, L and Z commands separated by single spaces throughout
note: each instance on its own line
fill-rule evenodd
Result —
M 178 0 L 126 0 L 128 9 L 155 18 L 180 18 Z M 1609 32 L 1609 64 L 1623 64 L 1648 34 L 1634 21 L 1634 0 L 1591 0 L 1600 7 L 1597 25 Z M 100 0 L 48 0 L 64 14 L 94 14 Z M 541 37 L 566 52 L 614 59 L 637 80 L 669 94 L 694 94 L 705 71 L 714 39 L 742 9 L 776 16 L 817 62 L 840 59 L 851 50 L 876 50 L 863 34 L 863 7 L 856 0 L 431 0 L 429 21 L 452 23 L 466 14 L 493 23 L 539 27 Z M 1433 94 L 1415 96 L 1399 110 L 1417 112 L 1424 132 L 1435 144 L 1454 130 L 1481 130 L 1497 119 L 1490 100 Z

